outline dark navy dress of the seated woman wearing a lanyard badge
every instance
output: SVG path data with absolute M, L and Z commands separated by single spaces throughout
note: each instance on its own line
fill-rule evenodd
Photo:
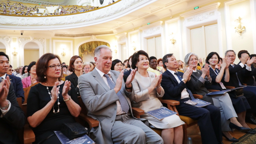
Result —
M 215 70 L 218 71 L 218 74 L 220 73 L 220 70 L 218 68 L 215 68 Z M 215 71 L 216 72 L 216 71 Z M 210 68 L 210 76 L 212 77 L 212 85 L 210 86 L 205 86 L 208 90 L 219 90 L 222 91 L 223 89 L 221 88 L 219 83 L 216 83 L 216 76 L 217 72 L 215 73 L 212 68 Z M 225 79 L 225 75 L 222 76 L 221 82 L 223 83 Z M 250 105 L 246 98 L 242 95 L 240 97 L 232 97 L 234 95 L 234 92 L 228 92 L 230 99 L 232 101 L 233 107 L 236 111 L 236 113 L 241 113 L 243 111 L 246 111 L 246 109 L 250 109 Z

